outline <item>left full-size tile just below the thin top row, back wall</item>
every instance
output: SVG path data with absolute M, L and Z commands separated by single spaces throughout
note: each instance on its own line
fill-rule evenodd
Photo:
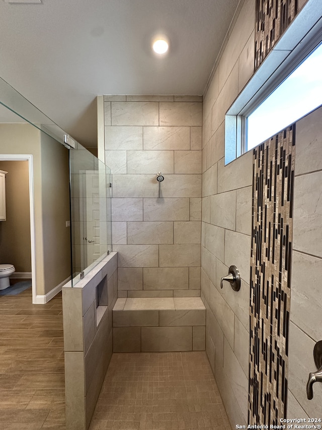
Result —
M 112 126 L 157 126 L 157 102 L 112 102 Z

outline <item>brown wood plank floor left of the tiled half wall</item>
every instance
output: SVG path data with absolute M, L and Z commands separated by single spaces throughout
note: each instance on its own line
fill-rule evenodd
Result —
M 0 429 L 66 430 L 61 293 L 0 296 Z

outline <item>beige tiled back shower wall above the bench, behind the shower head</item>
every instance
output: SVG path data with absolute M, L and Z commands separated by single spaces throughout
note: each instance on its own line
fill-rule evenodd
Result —
M 118 296 L 198 296 L 202 98 L 104 100 Z

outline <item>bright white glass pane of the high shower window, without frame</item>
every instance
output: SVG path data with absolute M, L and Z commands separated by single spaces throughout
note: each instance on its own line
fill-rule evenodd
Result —
M 322 43 L 246 118 L 246 151 L 322 104 Z

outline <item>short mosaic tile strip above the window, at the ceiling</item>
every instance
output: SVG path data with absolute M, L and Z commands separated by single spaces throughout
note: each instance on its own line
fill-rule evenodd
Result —
M 256 0 L 255 70 L 297 14 L 298 0 Z

